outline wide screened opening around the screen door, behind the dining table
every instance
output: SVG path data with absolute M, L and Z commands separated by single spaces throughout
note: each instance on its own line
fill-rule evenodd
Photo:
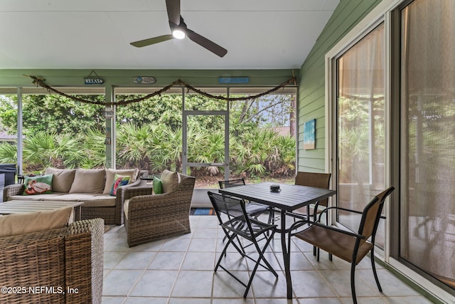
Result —
M 295 88 L 246 100 L 269 88 L 175 88 L 115 110 L 116 166 L 163 169 L 196 176 L 196 187 L 218 187 L 218 180 L 294 182 Z M 116 88 L 116 102 L 153 92 Z M 228 108 L 229 106 L 229 108 Z M 229 138 L 227 138 L 227 136 Z M 229 145 L 227 143 L 229 142 Z

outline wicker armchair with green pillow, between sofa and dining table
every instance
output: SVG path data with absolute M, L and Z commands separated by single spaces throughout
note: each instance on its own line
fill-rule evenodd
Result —
M 147 190 L 147 187 L 129 189 L 124 206 L 129 247 L 191 232 L 189 216 L 196 178 L 179 175 L 180 182 L 176 189 L 164 194 L 141 195 L 139 192 Z

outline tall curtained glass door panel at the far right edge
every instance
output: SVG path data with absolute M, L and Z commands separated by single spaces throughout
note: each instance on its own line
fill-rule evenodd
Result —
M 455 1 L 401 10 L 400 257 L 455 288 Z

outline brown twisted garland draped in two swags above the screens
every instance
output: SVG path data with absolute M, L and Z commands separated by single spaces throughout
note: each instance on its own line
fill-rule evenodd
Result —
M 149 99 L 151 97 L 154 97 L 156 95 L 161 95 L 161 93 L 166 92 L 167 90 L 172 88 L 174 85 L 181 85 L 184 88 L 187 88 L 188 90 L 192 90 L 192 91 L 194 91 L 194 92 L 196 92 L 196 93 L 198 93 L 200 95 L 203 95 L 205 97 L 208 97 L 208 98 L 213 98 L 213 99 L 218 99 L 218 100 L 229 100 L 229 101 L 249 100 L 249 99 L 259 98 L 259 97 L 262 97 L 264 95 L 273 93 L 273 92 L 279 90 L 280 88 L 284 88 L 284 86 L 289 85 L 291 83 L 293 83 L 294 85 L 296 83 L 296 78 L 295 78 L 295 76 L 293 76 L 292 78 L 290 78 L 289 80 L 286 80 L 281 85 L 278 85 L 275 88 L 267 90 L 264 93 L 259 93 L 257 95 L 250 95 L 250 96 L 247 96 L 247 97 L 227 98 L 227 97 L 218 96 L 218 95 L 211 95 L 211 94 L 206 93 L 206 92 L 204 92 L 202 90 L 198 90 L 197 88 L 194 88 L 192 85 L 188 85 L 188 83 L 185 83 L 182 80 L 178 79 L 178 80 L 174 81 L 173 83 L 171 83 L 170 85 L 166 85 L 161 90 L 157 90 L 156 92 L 151 93 L 149 95 L 145 95 L 144 97 L 141 97 L 141 98 L 135 98 L 135 99 L 132 99 L 132 100 L 120 100 L 120 101 L 117 101 L 115 103 L 103 103 L 101 101 L 92 101 L 92 100 L 85 100 L 85 99 L 82 99 L 82 98 L 77 98 L 75 96 L 71 96 L 71 95 L 65 94 L 63 92 L 60 92 L 59 90 L 56 90 L 55 88 L 50 87 L 50 85 L 46 85 L 45 82 L 44 82 L 45 79 L 38 78 L 36 76 L 31 76 L 31 75 L 24 75 L 24 76 L 28 76 L 28 77 L 32 78 L 33 79 L 33 84 L 35 84 L 36 86 L 39 85 L 39 86 L 41 86 L 41 88 L 45 88 L 46 90 L 48 90 L 49 93 L 56 93 L 58 95 L 65 96 L 66 98 L 70 98 L 71 100 L 79 101 L 80 103 L 90 103 L 90 104 L 93 104 L 93 105 L 128 105 L 129 103 L 139 103 L 141 101 L 144 101 L 144 100 Z

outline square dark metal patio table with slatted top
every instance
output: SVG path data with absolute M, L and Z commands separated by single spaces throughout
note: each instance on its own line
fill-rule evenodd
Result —
M 260 204 L 272 206 L 279 209 L 281 213 L 281 223 L 277 232 L 281 234 L 283 260 L 284 260 L 284 273 L 286 275 L 287 284 L 287 298 L 292 298 L 292 280 L 290 271 L 290 252 L 288 250 L 289 229 L 287 228 L 286 218 L 287 213 L 294 211 L 301 207 L 321 201 L 329 196 L 336 194 L 335 190 L 322 189 L 315 187 L 299 186 L 294 184 L 279 184 L 279 192 L 272 192 L 270 186 L 272 182 L 262 182 L 259 184 L 247 184 L 237 187 L 230 187 L 219 189 L 222 194 L 228 194 L 249 201 L 256 201 Z

